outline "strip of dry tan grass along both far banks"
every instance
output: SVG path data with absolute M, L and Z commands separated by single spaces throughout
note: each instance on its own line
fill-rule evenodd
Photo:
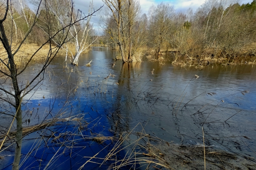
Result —
M 72 44 L 69 44 L 70 52 L 68 52 L 69 59 L 72 59 L 71 52 L 75 54 L 75 48 Z M 106 47 L 103 45 L 94 45 L 94 47 Z M 13 46 L 13 51 L 17 47 Z M 24 64 L 30 59 L 30 57 L 38 50 L 39 46 L 37 44 L 24 44 L 19 51 L 14 56 L 16 66 L 18 68 L 23 67 Z M 163 48 L 166 49 L 166 48 Z M 54 51 L 54 47 L 53 47 Z M 90 51 L 87 50 L 84 53 Z M 49 53 L 49 45 L 42 47 L 32 58 L 32 63 L 43 62 Z M 256 43 L 253 43 L 249 47 L 245 47 L 243 50 L 237 50 L 233 52 L 225 52 L 223 50 L 216 50 L 214 48 L 207 48 L 200 53 L 191 52 L 185 53 L 177 49 L 166 49 L 161 50 L 161 57 L 156 59 L 155 51 L 149 50 L 146 47 L 142 48 L 137 52 L 129 62 L 142 62 L 143 54 L 151 61 L 161 60 L 161 63 L 165 63 L 164 55 L 173 56 L 173 64 L 181 67 L 196 67 L 203 68 L 212 63 L 218 63 L 223 65 L 235 65 L 235 64 L 256 64 Z M 7 58 L 7 53 L 3 47 L 0 47 L 0 58 L 5 60 Z M 65 49 L 61 49 L 57 56 L 65 56 Z M 121 57 L 116 56 L 115 60 L 121 59 Z M 0 63 L 0 69 L 5 70 L 3 63 Z

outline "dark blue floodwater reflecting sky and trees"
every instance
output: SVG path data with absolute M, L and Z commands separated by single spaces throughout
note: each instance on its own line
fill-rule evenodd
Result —
M 42 85 L 24 99 L 27 103 L 22 106 L 26 113 L 23 119 L 30 119 L 31 125 L 60 112 L 63 116 L 81 114 L 84 120 L 92 122 L 88 125 L 92 134 L 111 136 L 141 124 L 147 134 L 182 145 L 201 145 L 203 126 L 207 146 L 256 157 L 255 66 L 210 64 L 197 70 L 173 66 L 171 56 L 164 56 L 164 65 L 159 65 L 147 58 L 142 63 L 123 64 L 112 59 L 116 55 L 108 48 L 94 47 L 80 56 L 78 67 L 64 63 L 64 58 L 54 59 Z M 91 60 L 92 66 L 86 67 Z M 31 65 L 20 81 L 27 82 L 38 67 L 40 65 Z M 11 118 L 1 116 L 2 126 L 10 122 Z M 65 127 L 59 124 L 54 129 L 59 128 L 58 133 L 75 129 L 67 122 L 64 124 Z M 32 152 L 30 149 L 37 137 L 38 133 L 25 137 L 23 155 Z M 34 140 L 26 141 L 32 138 Z M 79 142 L 88 147 L 74 148 L 73 157 L 71 153 L 62 154 L 48 169 L 64 166 L 78 169 L 88 160 L 84 157 L 93 157 L 103 149 L 106 153 L 114 145 L 113 142 L 104 145 L 95 141 Z M 45 167 L 59 148 L 52 146 L 53 152 L 44 141 L 40 145 L 38 152 L 23 162 L 22 169 Z M 13 151 L 11 148 L 0 153 L 5 159 L 0 161 L 1 169 L 11 169 Z M 58 152 L 65 153 L 65 150 Z M 102 158 L 105 153 L 101 154 Z M 107 169 L 108 165 L 99 168 L 90 162 L 84 169 L 96 167 Z

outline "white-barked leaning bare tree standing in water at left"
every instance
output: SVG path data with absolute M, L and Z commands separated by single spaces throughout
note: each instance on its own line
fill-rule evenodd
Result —
M 61 5 L 59 5 L 61 4 Z M 76 20 L 84 17 L 84 13 L 82 10 L 78 9 L 78 12 L 72 11 L 72 1 L 70 0 L 52 0 L 47 1 L 45 4 L 47 8 L 50 10 L 51 20 L 55 24 L 52 25 L 52 31 L 56 32 L 60 28 L 65 27 L 70 24 L 69 20 L 67 20 L 67 16 L 71 17 L 71 23 Z M 71 54 L 72 61 L 71 64 L 78 66 L 78 58 L 82 52 L 84 52 L 87 48 L 97 40 L 97 36 L 94 36 L 93 26 L 90 24 L 91 16 L 90 13 L 93 12 L 93 4 L 90 3 L 90 8 L 88 11 L 88 16 L 86 20 L 81 20 L 76 22 L 76 24 L 72 23 L 72 28 L 69 29 L 68 37 L 69 43 L 65 43 L 64 47 L 61 47 L 66 51 L 65 62 L 67 62 L 68 54 Z M 72 15 L 71 15 L 72 13 Z M 45 25 L 45 13 L 44 15 L 39 17 L 39 27 L 47 33 L 47 27 Z M 61 36 L 56 36 L 53 38 L 53 42 L 59 46 L 62 41 Z

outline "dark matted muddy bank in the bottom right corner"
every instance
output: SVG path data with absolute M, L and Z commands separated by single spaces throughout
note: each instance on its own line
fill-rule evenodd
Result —
M 170 170 L 200 169 L 255 169 L 255 160 L 251 157 L 229 153 L 217 149 L 215 146 L 203 145 L 175 145 L 161 142 L 158 145 L 150 145 L 148 157 L 155 157 L 165 162 Z M 204 154 L 205 153 L 205 154 Z

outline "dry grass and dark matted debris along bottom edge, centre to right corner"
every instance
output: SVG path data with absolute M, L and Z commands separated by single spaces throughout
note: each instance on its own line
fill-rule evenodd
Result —
M 141 129 L 135 131 L 135 129 Z M 113 132 L 116 134 L 116 132 Z M 237 161 L 237 155 L 229 154 L 226 151 L 214 150 L 211 146 L 203 145 L 175 145 L 172 142 L 163 141 L 157 137 L 147 134 L 142 124 L 138 123 L 131 131 L 120 132 L 114 137 L 103 137 L 97 134 L 90 138 L 102 144 L 111 140 L 114 144 L 105 158 L 97 157 L 101 151 L 93 157 L 84 157 L 83 165 L 79 169 L 86 167 L 87 163 L 97 163 L 100 166 L 106 162 L 114 162 L 109 169 L 118 170 L 122 168 L 136 169 L 236 169 L 252 168 L 249 160 Z M 104 148 L 105 149 L 105 148 Z M 117 155 L 122 153 L 121 158 Z M 221 160 L 221 161 L 220 161 Z

